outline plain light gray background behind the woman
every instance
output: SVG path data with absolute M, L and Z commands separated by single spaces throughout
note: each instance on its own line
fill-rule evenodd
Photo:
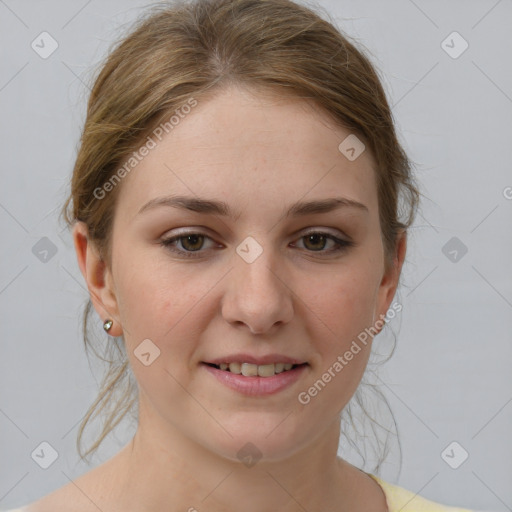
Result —
M 403 311 L 392 322 L 397 349 L 377 379 L 398 423 L 403 468 L 398 474 L 393 449 L 381 476 L 442 503 L 512 510 L 511 2 L 319 4 L 371 52 L 426 196 L 397 296 Z M 0 0 L 0 508 L 90 469 L 75 437 L 101 368 L 91 372 L 82 347 L 87 293 L 56 216 L 84 120 L 84 83 L 120 25 L 147 5 Z M 31 48 L 43 31 L 59 45 L 46 59 Z M 457 58 L 442 46 L 453 31 L 469 43 Z M 36 257 L 43 237 L 56 249 L 46 262 Z M 443 252 L 452 237 L 456 261 L 451 246 Z M 375 346 L 387 353 L 392 339 L 382 334 Z M 133 433 L 118 428 L 94 465 Z M 48 469 L 31 458 L 43 441 L 59 454 Z M 458 469 L 441 455 L 453 441 L 469 453 Z M 452 460 L 461 453 L 456 447 Z

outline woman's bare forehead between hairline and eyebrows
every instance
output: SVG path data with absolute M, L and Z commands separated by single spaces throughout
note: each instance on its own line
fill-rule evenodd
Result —
M 340 151 L 350 135 L 311 102 L 230 88 L 153 137 L 123 178 L 117 208 L 133 218 L 155 197 L 187 194 L 257 212 L 337 193 L 374 209 L 374 161 L 368 150 L 353 161 Z

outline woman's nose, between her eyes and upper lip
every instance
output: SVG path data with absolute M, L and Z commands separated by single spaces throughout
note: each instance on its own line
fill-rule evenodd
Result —
M 222 301 L 224 319 L 252 334 L 271 334 L 293 317 L 293 292 L 283 265 L 263 253 L 252 263 L 234 255 L 234 268 Z

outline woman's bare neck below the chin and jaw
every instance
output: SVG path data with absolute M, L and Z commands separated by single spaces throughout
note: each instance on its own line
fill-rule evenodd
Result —
M 246 465 L 212 453 L 149 414 L 140 408 L 138 430 L 120 453 L 116 501 L 124 510 L 355 510 L 361 481 L 369 479 L 337 457 L 339 418 L 289 457 Z

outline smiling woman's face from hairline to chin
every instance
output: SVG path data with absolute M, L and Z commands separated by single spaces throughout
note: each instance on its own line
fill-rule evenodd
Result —
M 302 100 L 231 89 L 123 178 L 93 302 L 120 322 L 140 410 L 161 433 L 233 460 L 250 441 L 277 460 L 339 418 L 405 247 L 386 270 L 374 162 L 340 152 L 348 135 Z M 318 201 L 331 207 L 304 206 Z M 285 363 L 300 366 L 263 376 Z

